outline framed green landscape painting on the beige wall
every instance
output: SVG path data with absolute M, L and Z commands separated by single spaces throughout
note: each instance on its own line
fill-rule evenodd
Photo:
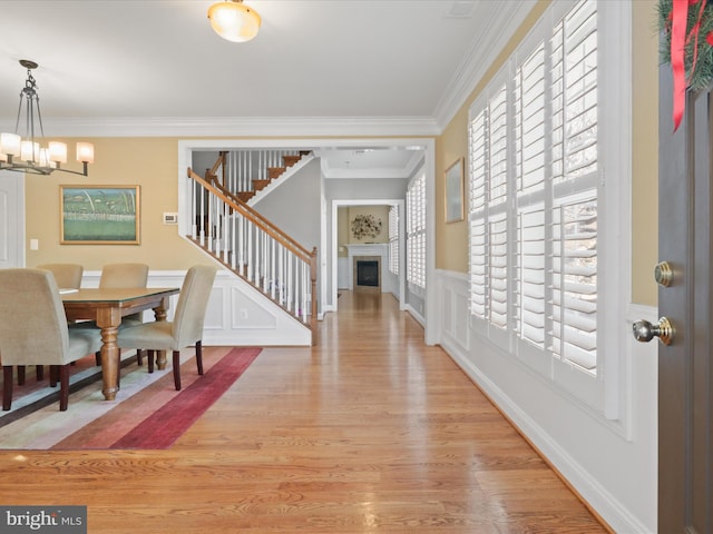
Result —
M 59 186 L 62 245 L 138 245 L 139 186 Z

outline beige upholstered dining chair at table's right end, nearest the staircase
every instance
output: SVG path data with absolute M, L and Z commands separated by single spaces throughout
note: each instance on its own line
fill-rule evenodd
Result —
M 156 350 L 173 350 L 176 390 L 180 389 L 180 349 L 195 344 L 198 375 L 203 375 L 203 325 L 216 270 L 207 265 L 196 265 L 188 269 L 173 320 L 156 320 L 121 328 L 117 336 L 119 348 L 147 350 L 149 373 L 154 372 Z

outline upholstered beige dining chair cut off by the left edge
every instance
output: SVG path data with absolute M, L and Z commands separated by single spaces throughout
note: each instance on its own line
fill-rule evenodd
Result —
M 12 367 L 50 366 L 59 375 L 59 409 L 69 403 L 69 364 L 101 346 L 96 328 L 69 328 L 55 277 L 47 269 L 0 269 L 2 409 L 12 405 Z M 55 380 L 52 380 L 55 382 Z

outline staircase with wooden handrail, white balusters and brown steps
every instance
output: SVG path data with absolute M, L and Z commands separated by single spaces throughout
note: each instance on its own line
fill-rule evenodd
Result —
M 311 330 L 316 344 L 316 247 L 307 250 L 248 205 L 311 152 L 219 152 L 205 178 L 188 168 L 187 239 Z M 255 176 L 253 178 L 253 176 Z

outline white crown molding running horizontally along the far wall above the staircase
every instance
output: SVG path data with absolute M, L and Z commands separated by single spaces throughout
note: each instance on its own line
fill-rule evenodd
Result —
M 436 136 L 432 117 L 104 117 L 42 118 L 46 137 Z M 14 119 L 0 118 L 0 131 Z

